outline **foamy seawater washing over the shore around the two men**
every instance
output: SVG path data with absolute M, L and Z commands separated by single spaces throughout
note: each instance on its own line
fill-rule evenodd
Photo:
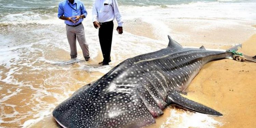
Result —
M 0 0 L 0 127 L 40 122 L 75 90 L 119 62 L 166 47 L 168 34 L 184 45 L 219 48 L 242 43 L 256 32 L 255 0 L 118 0 L 124 34 L 114 31 L 112 63 L 100 67 L 98 31 L 91 21 L 93 0 L 82 1 L 88 12 L 83 21 L 88 63 L 78 44 L 78 59 L 69 59 L 65 24 L 57 18 L 59 0 Z M 195 127 L 222 124 L 200 117 Z

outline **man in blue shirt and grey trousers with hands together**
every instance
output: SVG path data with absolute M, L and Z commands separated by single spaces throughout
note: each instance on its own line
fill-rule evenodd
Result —
M 64 0 L 59 3 L 58 17 L 65 20 L 71 59 L 77 57 L 76 38 L 82 48 L 85 61 L 88 61 L 90 58 L 82 24 L 83 18 L 86 15 L 87 11 L 80 0 Z

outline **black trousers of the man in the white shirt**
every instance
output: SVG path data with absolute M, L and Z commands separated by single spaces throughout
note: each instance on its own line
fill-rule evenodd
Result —
M 99 40 L 103 55 L 103 64 L 108 64 L 110 61 L 113 28 L 113 21 L 100 23 Z

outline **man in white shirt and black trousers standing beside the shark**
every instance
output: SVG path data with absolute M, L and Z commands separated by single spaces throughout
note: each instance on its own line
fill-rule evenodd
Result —
M 119 13 L 117 0 L 95 0 L 93 4 L 93 24 L 99 28 L 100 47 L 103 55 L 102 65 L 109 65 L 113 36 L 113 20 L 116 18 L 119 34 L 123 33 L 123 20 Z

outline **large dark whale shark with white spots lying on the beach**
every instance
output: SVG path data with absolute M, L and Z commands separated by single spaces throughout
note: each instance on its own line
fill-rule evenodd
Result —
M 231 53 L 184 48 L 169 35 L 166 48 L 129 58 L 97 81 L 83 86 L 53 110 L 64 128 L 140 128 L 155 123 L 163 109 L 177 105 L 189 111 L 222 116 L 189 100 L 190 82 L 209 61 Z

